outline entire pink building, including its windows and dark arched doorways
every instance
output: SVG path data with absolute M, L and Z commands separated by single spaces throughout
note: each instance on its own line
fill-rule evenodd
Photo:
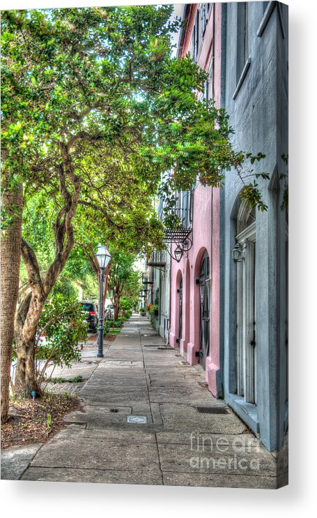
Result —
M 220 106 L 221 3 L 188 4 L 183 17 L 179 57 L 190 53 L 208 73 L 205 95 Z M 200 363 L 212 394 L 219 392 L 219 188 L 197 184 L 181 193 L 180 209 L 191 228 L 192 248 L 171 264 L 169 343 L 180 347 L 190 364 Z M 176 245 L 173 245 L 175 249 Z

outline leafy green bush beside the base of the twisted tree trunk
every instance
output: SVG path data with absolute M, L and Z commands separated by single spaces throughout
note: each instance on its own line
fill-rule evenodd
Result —
M 40 385 L 50 363 L 71 367 L 71 362 L 80 360 L 81 346 L 78 342 L 86 340 L 86 337 L 87 323 L 82 314 L 82 304 L 75 297 L 65 297 L 61 293 L 53 295 L 45 304 L 38 323 L 35 349 L 38 392 L 41 392 Z M 44 364 L 40 360 L 44 360 Z

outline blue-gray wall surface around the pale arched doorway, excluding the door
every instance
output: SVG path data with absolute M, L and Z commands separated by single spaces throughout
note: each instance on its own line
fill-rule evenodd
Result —
M 223 6 L 222 103 L 230 115 L 236 149 L 266 155 L 255 166 L 270 174 L 258 179 L 267 212 L 256 211 L 256 350 L 257 405 L 243 404 L 236 389 L 236 265 L 231 260 L 235 245 L 238 194 L 243 186 L 235 172 L 226 175 L 222 192 L 222 329 L 223 383 L 226 401 L 241 415 L 269 450 L 281 447 L 286 427 L 286 212 L 281 212 L 288 154 L 287 6 L 273 8 L 261 36 L 264 3 L 248 5 L 248 57 L 251 64 L 237 87 L 238 4 Z M 282 22 L 281 22 L 282 20 Z M 284 32 L 283 32 L 284 31 Z

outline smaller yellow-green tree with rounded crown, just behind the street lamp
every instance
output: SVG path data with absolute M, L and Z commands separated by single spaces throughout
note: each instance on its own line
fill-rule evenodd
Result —
M 157 221 L 153 209 L 153 197 L 143 179 L 134 174 L 134 158 L 130 163 L 116 163 L 105 185 L 86 195 L 77 210 L 75 221 L 75 246 L 77 253 L 84 251 L 91 269 L 98 279 L 100 288 L 100 267 L 95 255 L 98 243 L 126 253 L 144 251 L 162 246 L 162 223 Z M 98 170 L 98 164 L 95 164 Z M 115 214 L 115 224 L 109 223 L 107 214 Z M 113 222 L 114 223 L 114 222 Z M 111 262 L 105 272 L 103 307 L 107 297 L 107 279 Z

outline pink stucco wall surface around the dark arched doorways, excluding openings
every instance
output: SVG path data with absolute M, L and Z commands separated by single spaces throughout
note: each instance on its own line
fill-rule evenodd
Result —
M 192 4 L 187 34 L 184 40 L 183 55 L 190 45 L 194 17 L 198 4 Z M 221 4 L 213 4 L 203 43 L 198 56 L 198 64 L 206 71 L 214 55 L 214 98 L 220 105 L 221 72 Z M 206 381 L 208 388 L 217 397 L 216 373 L 219 364 L 219 188 L 203 187 L 199 184 L 194 191 L 194 211 L 192 223 L 192 249 L 185 253 L 177 263 L 171 265 L 171 330 L 169 343 L 177 347 L 179 333 L 179 293 L 180 279 L 183 277 L 183 330 L 180 340 L 180 353 L 187 357 L 187 362 L 195 364 L 198 358 L 200 330 L 199 269 L 205 250 L 210 261 L 212 279 L 212 311 L 210 311 L 210 348 L 206 361 Z

